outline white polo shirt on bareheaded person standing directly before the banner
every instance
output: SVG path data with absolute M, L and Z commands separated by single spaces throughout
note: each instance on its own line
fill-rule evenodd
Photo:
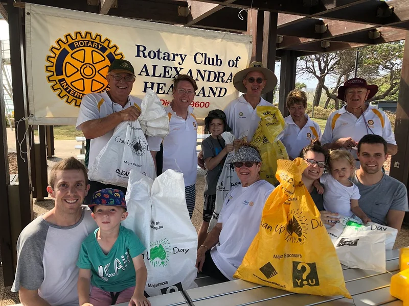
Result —
M 196 184 L 197 175 L 197 121 L 189 106 L 186 120 L 166 108 L 169 116 L 169 134 L 163 139 L 163 172 L 168 169 L 183 173 L 185 187 Z

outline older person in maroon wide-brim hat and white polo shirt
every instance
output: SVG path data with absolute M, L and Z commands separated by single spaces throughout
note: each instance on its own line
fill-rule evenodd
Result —
M 350 79 L 338 88 L 338 99 L 347 104 L 333 112 L 325 126 L 322 137 L 325 149 L 344 148 L 351 152 L 355 159 L 356 145 L 368 134 L 382 136 L 388 143 L 388 154 L 395 155 L 398 147 L 391 122 L 385 113 L 366 101 L 378 92 L 377 85 L 368 85 L 360 78 Z M 359 168 L 359 161 L 356 163 Z

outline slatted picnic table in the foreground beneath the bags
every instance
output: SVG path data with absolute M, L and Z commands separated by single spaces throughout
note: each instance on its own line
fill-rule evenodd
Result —
M 402 301 L 397 300 L 389 293 L 391 277 L 399 272 L 399 250 L 387 250 L 386 267 L 391 273 L 352 269 L 342 266 L 345 283 L 352 299 L 343 296 L 317 296 L 296 294 L 280 289 L 266 287 L 258 284 L 236 279 L 235 281 L 214 284 L 183 292 L 150 297 L 152 306 L 187 305 L 187 306 L 227 306 L 227 305 L 257 305 L 269 306 L 288 305 L 388 305 L 402 306 Z M 126 306 L 127 303 L 119 304 Z

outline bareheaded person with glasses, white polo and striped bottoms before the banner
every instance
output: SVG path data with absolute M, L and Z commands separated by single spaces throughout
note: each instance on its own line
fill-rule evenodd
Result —
M 173 80 L 173 99 L 166 107 L 169 134 L 163 139 L 163 172 L 173 169 L 183 173 L 185 196 L 190 218 L 196 202 L 197 121 L 190 106 L 197 90 L 195 80 L 179 74 Z

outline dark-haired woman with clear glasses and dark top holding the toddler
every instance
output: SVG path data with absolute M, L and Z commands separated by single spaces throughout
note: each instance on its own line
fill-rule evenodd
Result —
M 330 221 L 337 221 L 338 214 L 328 212 L 324 210 L 324 197 L 319 194 L 313 183 L 315 180 L 319 180 L 324 173 L 326 167 L 328 151 L 324 150 L 319 140 L 312 141 L 301 150 L 300 157 L 305 160 L 308 167 L 305 168 L 302 180 L 305 188 L 310 193 L 316 208 L 321 213 L 321 220 L 324 224 L 332 225 Z

